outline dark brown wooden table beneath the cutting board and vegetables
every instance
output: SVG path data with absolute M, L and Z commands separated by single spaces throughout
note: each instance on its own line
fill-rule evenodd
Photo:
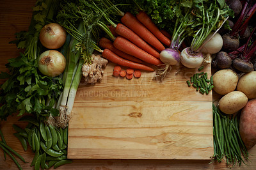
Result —
M 15 40 L 14 33 L 27 30 L 31 19 L 32 7 L 35 0 L 17 1 L 17 0 L 1 0 L 0 1 L 0 71 L 5 72 L 5 64 L 9 58 L 19 56 L 19 50 L 15 45 L 8 42 Z M 1 83 L 3 81 L 0 81 Z M 214 94 L 214 98 L 218 95 Z M 13 123 L 24 126 L 17 120 L 16 115 L 9 116 L 6 121 L 0 121 L 0 128 L 3 131 L 6 142 L 26 161 L 31 162 L 34 154 L 30 149 L 24 151 L 19 140 L 13 135 L 15 130 L 12 128 Z M 234 167 L 234 169 L 256 169 L 256 147 L 250 151 L 249 166 L 242 165 Z M 211 156 L 211 155 L 209 155 Z M 18 160 L 23 169 L 33 169 L 30 163 L 24 164 Z M 4 161 L 3 150 L 0 150 L 0 169 L 17 169 L 12 159 L 7 156 Z M 58 169 L 229 169 L 225 161 L 220 163 L 209 164 L 209 160 L 106 160 L 106 159 L 83 159 L 73 160 L 72 164 L 68 164 Z

